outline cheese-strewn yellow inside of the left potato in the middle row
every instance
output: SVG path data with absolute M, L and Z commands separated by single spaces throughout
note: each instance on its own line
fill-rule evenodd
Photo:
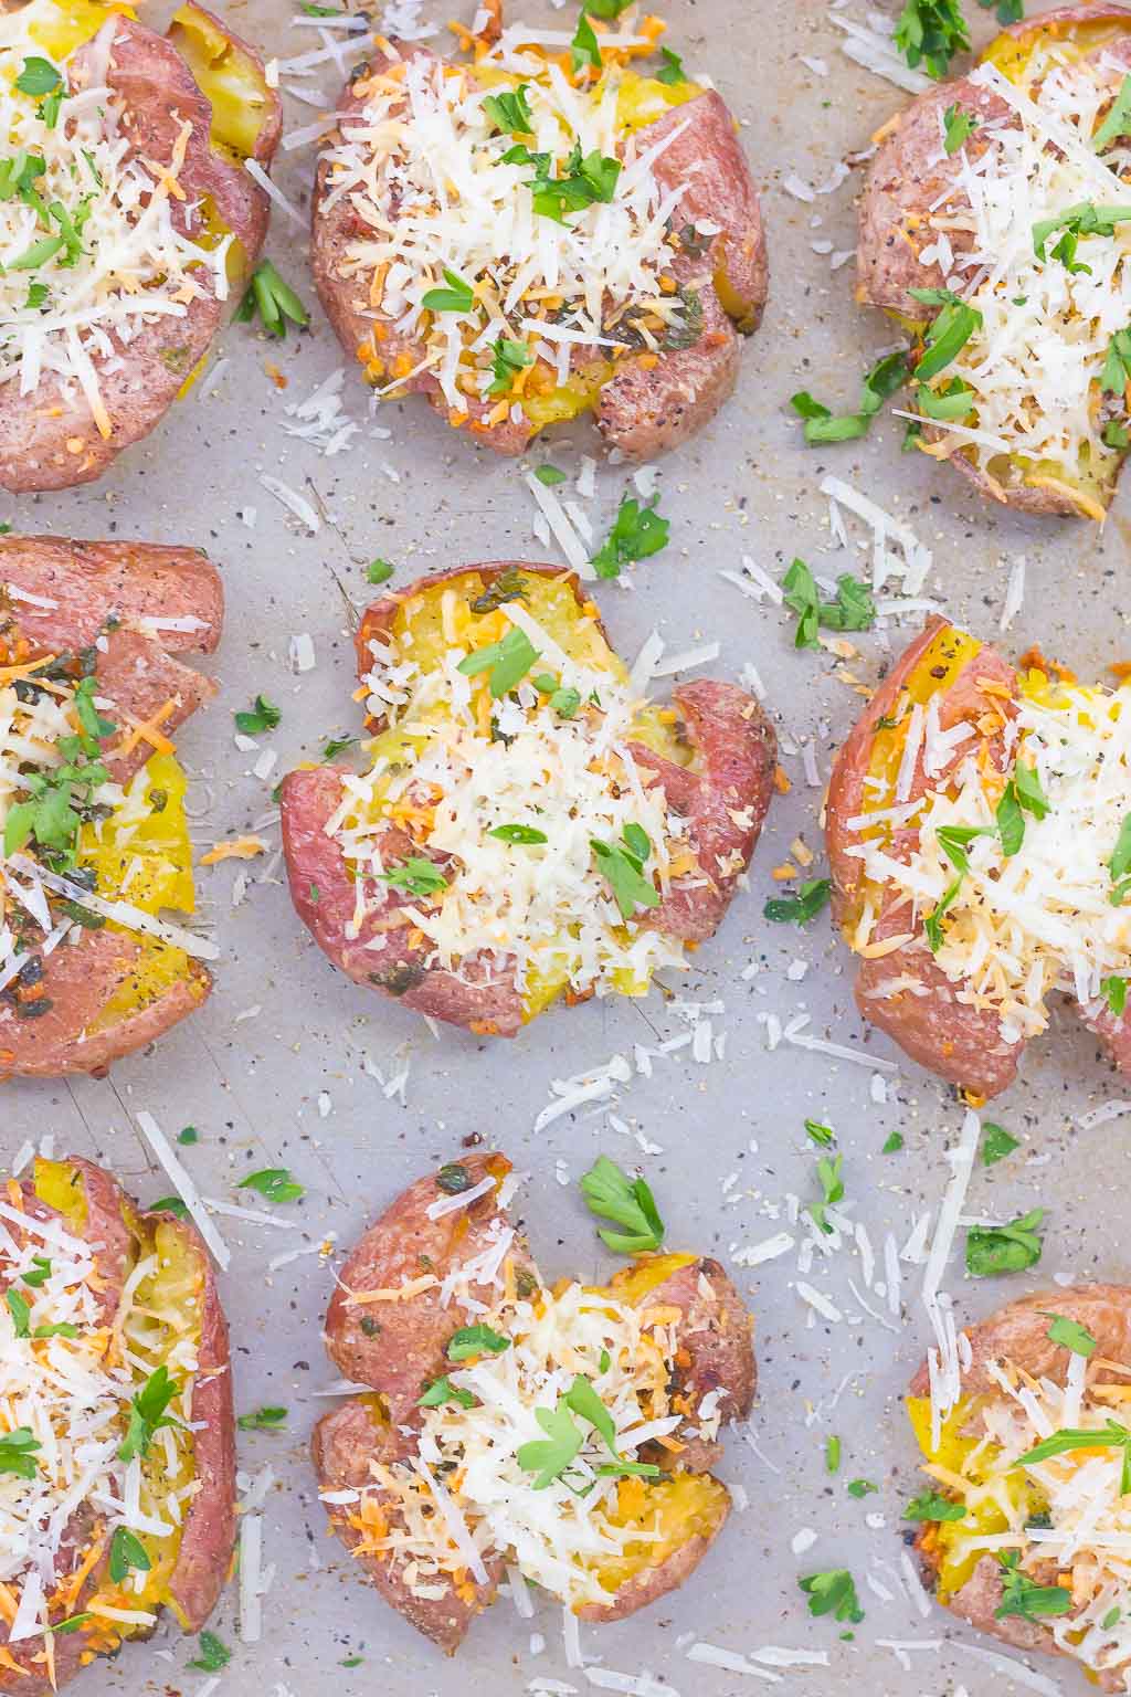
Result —
M 44 854 L 34 838 L 20 848 L 14 842 L 5 854 L 5 828 L 14 808 L 32 799 L 41 781 L 68 764 L 66 740 L 81 730 L 76 682 L 51 672 L 51 657 L 0 665 L 0 680 L 12 679 L 0 682 L 0 994 L 7 991 L 5 1000 L 17 1017 L 39 1011 L 37 957 L 81 937 L 73 901 L 70 911 L 59 911 L 58 879 L 54 884 L 46 881 L 61 871 L 66 857 Z M 115 720 L 112 701 L 93 694 L 92 703 L 109 723 Z M 105 770 L 102 762 L 98 769 Z M 83 823 L 75 842 L 75 869 L 66 872 L 68 891 L 81 905 L 85 891 L 92 889 L 97 898 L 115 903 L 114 928 L 129 930 L 134 921 L 149 933 L 139 937 L 136 967 L 93 1028 L 146 1005 L 188 971 L 188 957 L 178 947 L 183 933 L 156 918 L 164 908 L 192 913 L 195 906 L 183 796 L 185 774 L 168 752 L 154 755 L 127 784 L 107 776 L 90 789 L 78 786 Z M 86 923 L 102 925 L 105 916 L 88 911 Z

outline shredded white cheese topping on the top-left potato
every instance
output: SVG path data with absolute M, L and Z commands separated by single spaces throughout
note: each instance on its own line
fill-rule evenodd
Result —
M 25 192 L 0 199 L 0 385 L 29 395 L 54 380 L 68 400 L 86 399 L 105 436 L 100 368 L 127 355 L 146 326 L 183 319 L 193 300 L 227 299 L 232 236 L 210 227 L 205 207 L 185 204 L 176 178 L 188 120 L 171 168 L 136 153 L 119 127 L 122 102 L 105 87 L 114 20 L 85 49 L 54 122 L 42 97 L 17 88 L 37 59 L 66 92 L 70 58 L 46 46 L 61 12 L 32 0 L 0 17 L 0 166 L 24 161 L 25 182 Z

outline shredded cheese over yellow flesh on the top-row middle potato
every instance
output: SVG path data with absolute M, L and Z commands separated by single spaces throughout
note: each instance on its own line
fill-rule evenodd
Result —
M 453 423 L 463 423 L 473 397 L 492 407 L 490 423 L 510 416 L 541 426 L 588 404 L 629 348 L 695 339 L 687 314 L 697 302 L 678 294 L 668 270 L 680 251 L 670 226 L 680 224 L 683 185 L 663 190 L 655 175 L 675 136 L 638 149 L 632 126 L 699 90 L 617 63 L 588 90 L 578 87 L 587 73 L 568 75 L 565 56 L 563 64 L 507 37 L 473 70 L 426 58 L 395 63 L 363 85 L 363 112 L 326 154 L 326 209 L 346 199 L 358 224 L 341 275 L 356 282 L 375 326 L 358 358 L 383 390 L 421 370 L 434 373 Z M 488 102 L 519 88 L 531 131 L 500 134 Z M 534 165 L 504 160 L 519 141 L 544 154 L 551 178 L 577 175 L 590 156 L 619 156 L 610 199 L 563 222 L 539 214 Z M 473 299 L 461 311 L 429 311 L 424 297 L 448 287 L 446 272 Z M 421 356 L 385 358 L 385 326 L 412 338 Z M 526 365 L 510 365 L 492 387 L 499 339 L 519 344 Z

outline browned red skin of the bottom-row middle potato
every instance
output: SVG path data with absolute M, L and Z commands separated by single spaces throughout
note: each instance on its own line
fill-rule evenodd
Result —
M 510 1168 L 504 1156 L 488 1152 L 460 1156 L 458 1164 L 466 1169 L 466 1188 L 488 1174 L 502 1178 Z M 429 1220 L 429 1205 L 443 1195 L 436 1173 L 417 1179 L 370 1227 L 341 1271 L 326 1315 L 326 1347 L 334 1366 L 373 1386 L 376 1397 L 353 1397 L 319 1420 L 312 1456 L 324 1492 L 359 1490 L 371 1483 L 370 1461 L 404 1463 L 415 1453 L 414 1434 L 421 1424 L 417 1400 L 422 1386 L 444 1371 L 444 1349 L 463 1320 L 461 1310 L 441 1308 L 434 1288 L 405 1302 L 383 1302 L 368 1308 L 351 1307 L 349 1293 L 397 1288 L 419 1278 L 422 1266 L 443 1281 L 453 1266 L 485 1247 L 493 1222 L 505 1220 L 497 1191 L 485 1193 L 458 1213 Z M 454 1224 L 460 1220 L 466 1222 L 463 1229 Z M 527 1276 L 541 1285 L 522 1237 L 515 1235 L 512 1252 L 517 1257 L 517 1278 Z M 619 1295 L 617 1286 L 649 1259 L 638 1257 L 624 1274 L 614 1278 L 610 1293 Z M 731 1395 L 719 1410 L 722 1424 L 744 1419 L 756 1385 L 753 1319 L 719 1263 L 710 1257 L 694 1259 L 648 1290 L 638 1307 L 682 1310 L 683 1319 L 677 1324 L 682 1361 L 678 1390 L 687 1395 L 688 1403 L 695 1409 L 709 1390 L 726 1388 Z M 365 1336 L 354 1319 L 365 1313 L 380 1315 L 380 1332 L 371 1337 Z M 665 1319 L 663 1324 L 671 1320 Z M 678 1436 L 683 1441 L 682 1431 Z M 717 1451 L 717 1444 L 692 1437 L 680 1453 L 680 1468 L 707 1471 Z M 380 1493 L 376 1500 L 383 1500 Z M 348 1524 L 349 1505 L 327 1504 L 327 1512 L 337 1536 L 354 1551 L 361 1534 Z M 677 1590 L 699 1566 L 727 1514 L 729 1498 L 710 1536 L 690 1537 L 660 1566 L 622 1585 L 609 1604 L 578 1609 L 580 1617 L 619 1621 Z M 371 1553 L 356 1560 L 385 1602 L 448 1655 L 460 1648 L 475 1616 L 493 1602 L 505 1568 L 504 1553 L 488 1549 L 483 1553 L 487 1585 L 475 1583 L 468 1575 L 463 1595 L 449 1588 L 441 1599 L 419 1599 L 409 1592 L 390 1560 Z

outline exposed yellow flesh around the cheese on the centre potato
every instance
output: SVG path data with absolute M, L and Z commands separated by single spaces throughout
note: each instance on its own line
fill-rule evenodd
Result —
M 578 606 L 565 575 L 553 579 L 526 574 L 522 580 L 526 585 L 522 606 L 570 658 L 597 672 L 609 672 L 619 682 L 626 680 L 627 669 L 602 636 L 595 609 L 590 608 L 590 611 L 585 611 Z M 393 645 L 407 658 L 412 658 L 422 672 L 429 672 L 441 664 L 443 655 L 453 645 L 471 652 L 499 641 L 510 630 L 507 616 L 504 613 L 471 613 L 470 602 L 485 591 L 487 584 L 478 572 L 465 572 L 444 584 L 410 596 L 397 609 L 392 628 Z M 405 636 L 410 636 L 407 648 L 404 648 Z M 539 670 L 541 667 L 536 664 L 532 669 L 534 675 Z M 487 682 L 482 675 L 475 680 L 475 687 L 487 691 Z M 446 701 L 437 701 L 422 716 L 432 723 L 444 720 L 448 716 Z M 671 760 L 677 765 L 692 765 L 690 750 L 678 740 L 673 718 L 670 711 L 655 706 L 644 708 L 636 721 L 634 736 L 663 755 L 665 760 Z M 421 747 L 422 738 L 410 736 L 398 726 L 382 731 L 370 743 L 375 760 L 383 755 L 392 764 L 412 760 Z M 373 816 L 382 818 L 388 813 L 390 809 L 385 806 L 383 789 L 378 782 Z M 526 1020 L 532 1020 L 538 1013 L 543 1013 L 565 991 L 570 977 L 568 959 L 570 950 L 563 940 L 561 954 L 549 949 L 543 967 L 531 971 L 524 1001 Z M 617 981 L 617 991 L 626 996 L 644 996 L 648 994 L 648 983 L 624 972 Z

